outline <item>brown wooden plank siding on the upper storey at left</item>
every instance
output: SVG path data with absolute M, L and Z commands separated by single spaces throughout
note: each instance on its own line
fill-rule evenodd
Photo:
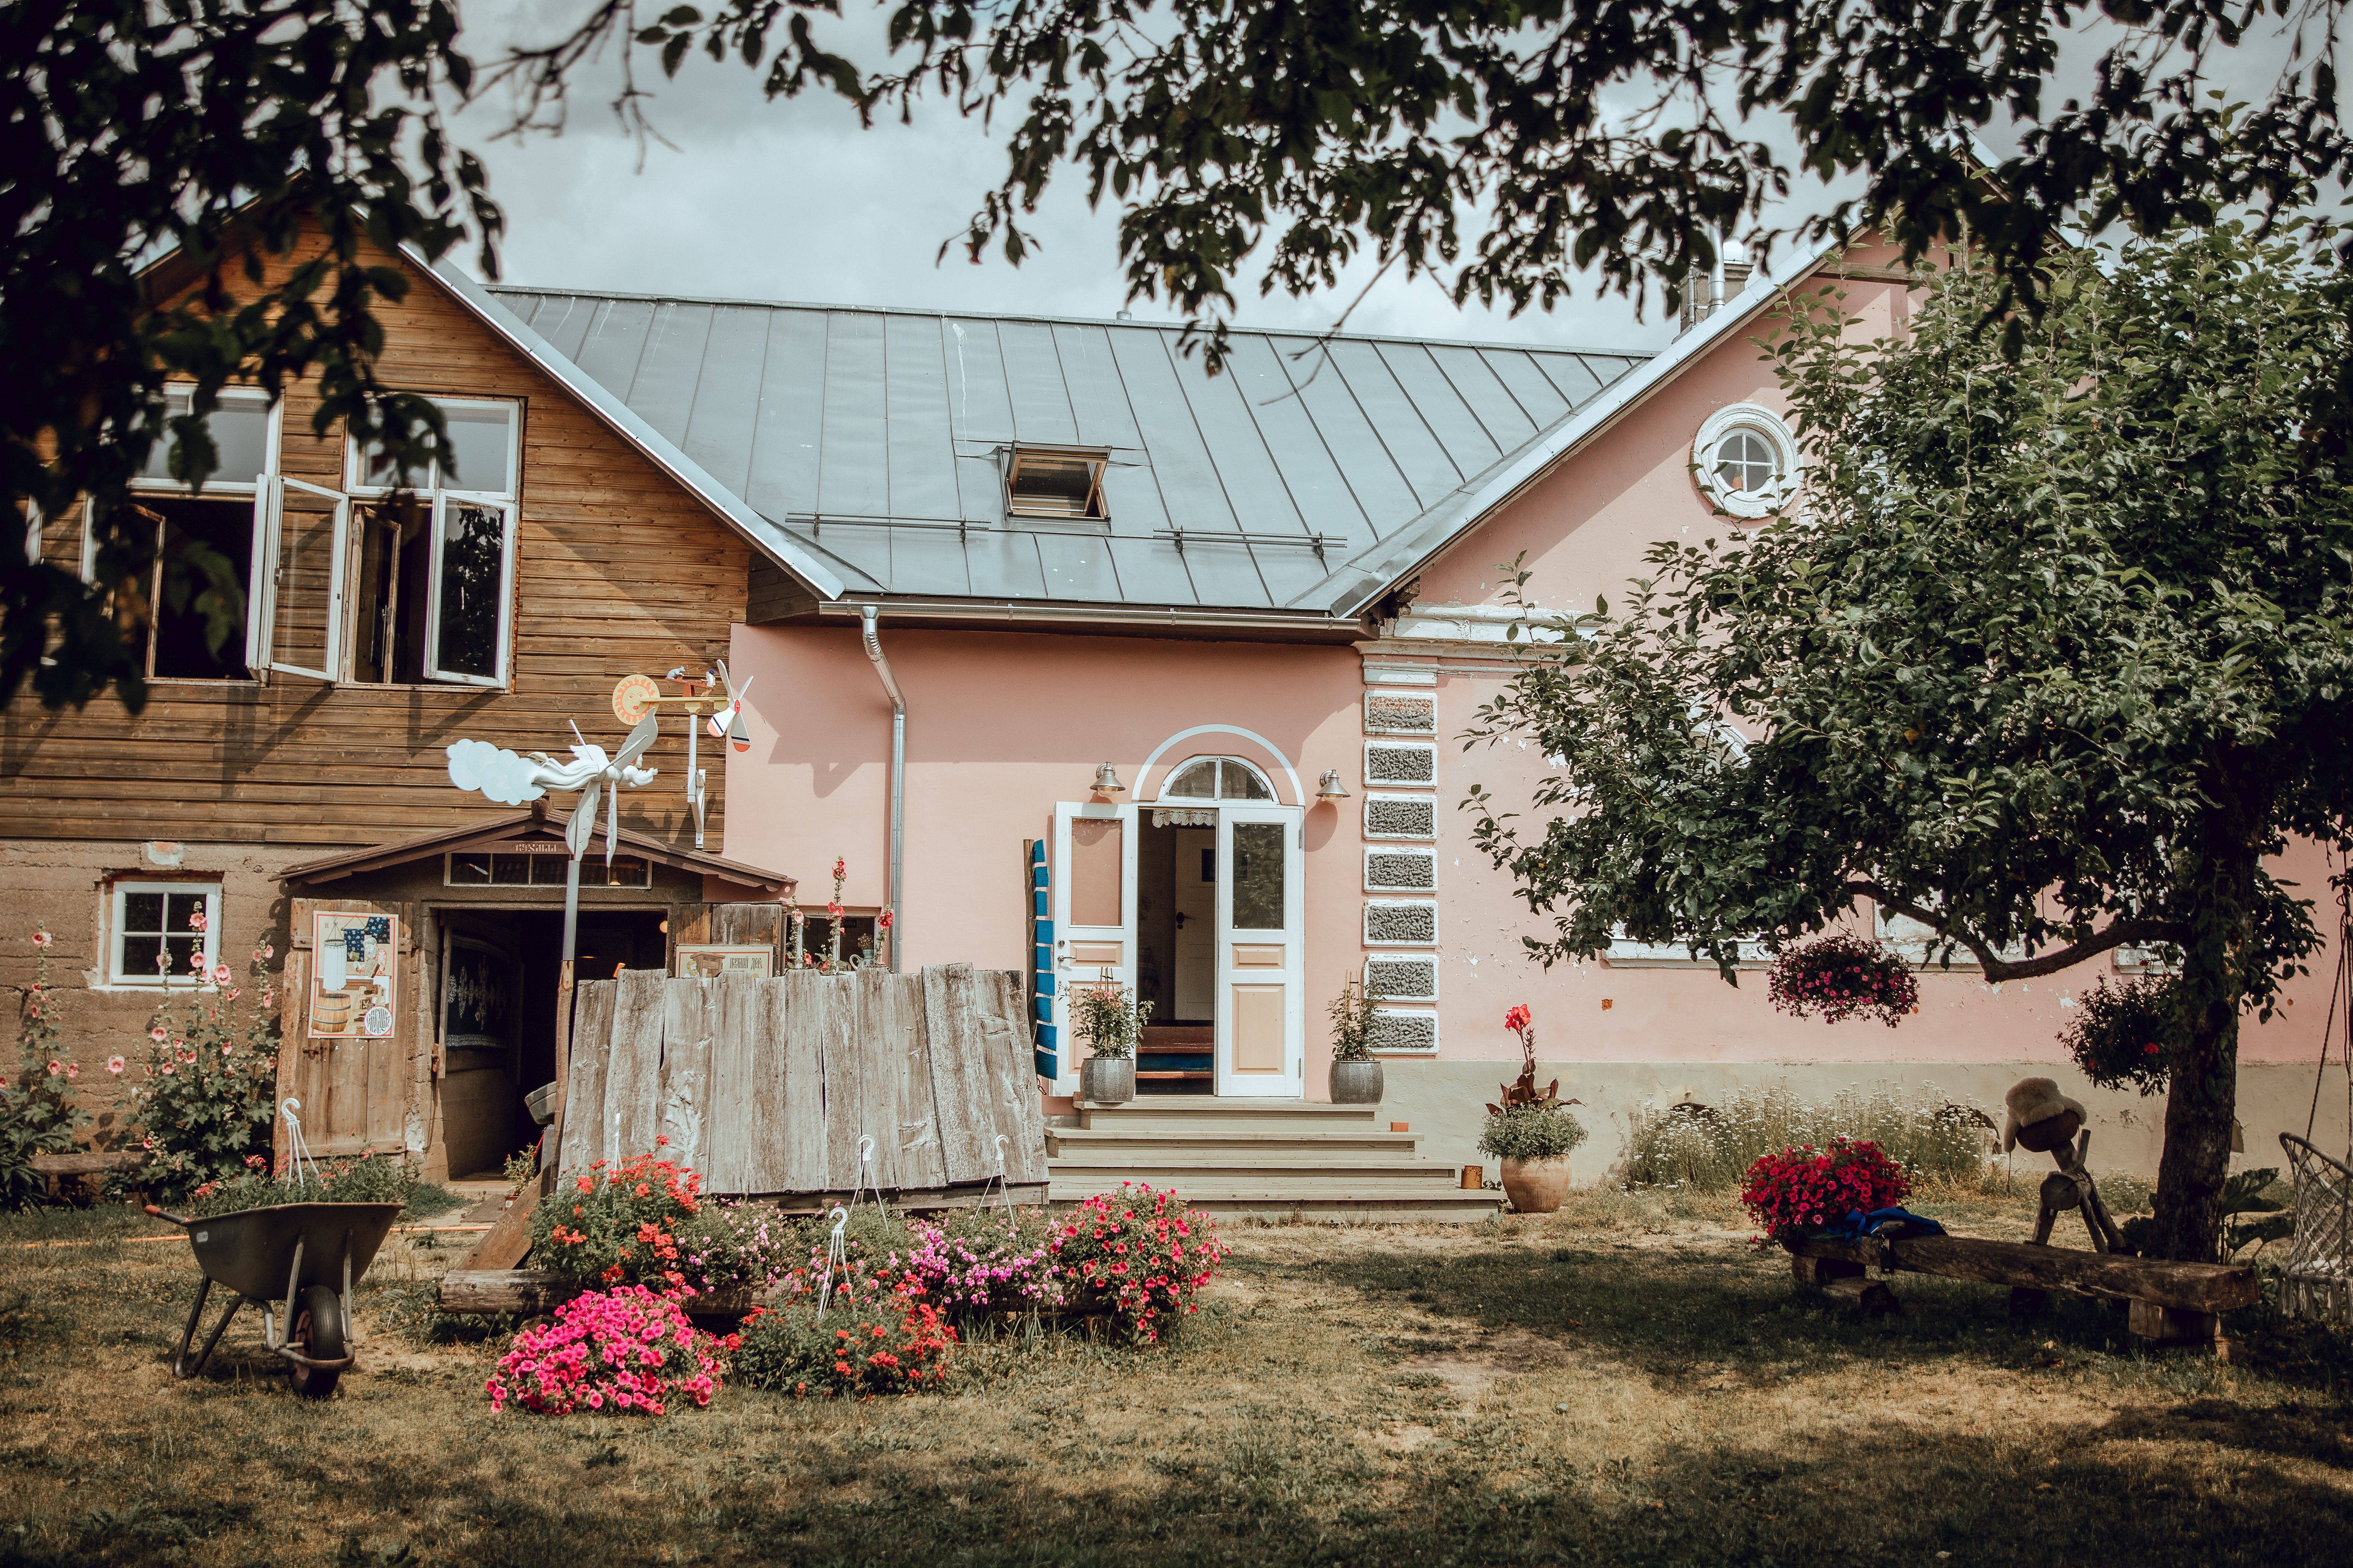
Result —
M 499 806 L 449 788 L 449 741 L 560 748 L 567 719 L 576 719 L 591 741 L 609 743 L 619 738 L 607 705 L 619 677 L 725 656 L 729 628 L 744 621 L 751 545 L 440 282 L 407 259 L 379 261 L 414 280 L 405 301 L 376 306 L 386 383 L 522 404 L 511 689 L 322 686 L 285 675 L 268 684 L 155 682 L 139 715 L 111 696 L 52 715 L 19 691 L 0 710 L 0 813 L 12 835 L 358 846 L 452 827 Z M 273 277 L 287 266 L 273 263 Z M 638 313 L 649 327 L 652 310 Z M 569 320 L 541 324 L 558 343 L 586 331 L 586 322 L 581 331 L 569 331 Z M 631 341 L 642 348 L 642 336 Z M 598 350 L 619 353 L 607 336 Z M 341 430 L 313 435 L 313 388 L 287 390 L 280 470 L 341 487 Z M 45 538 L 52 559 L 80 569 L 78 520 L 59 520 Z M 304 614 L 313 611 L 289 590 L 280 621 L 299 625 Z M 202 766 L 191 766 L 188 752 Z M 692 832 L 675 788 L 685 752 L 685 729 L 666 724 L 647 755 L 664 780 L 624 795 L 628 827 L 673 839 Z M 708 846 L 722 844 L 725 769 L 711 769 Z

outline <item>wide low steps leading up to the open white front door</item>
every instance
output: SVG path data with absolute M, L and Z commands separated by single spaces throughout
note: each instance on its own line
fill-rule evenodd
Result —
M 1047 1197 L 1073 1204 L 1120 1182 L 1174 1190 L 1221 1215 L 1320 1220 L 1482 1220 L 1492 1192 L 1419 1157 L 1379 1105 L 1313 1100 L 1078 1103 L 1078 1126 L 1047 1128 Z

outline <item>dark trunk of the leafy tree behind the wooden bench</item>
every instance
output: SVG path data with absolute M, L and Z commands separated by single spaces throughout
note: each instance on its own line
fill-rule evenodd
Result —
M 2207 776 L 2207 790 L 2214 809 L 2191 870 L 2191 940 L 2174 983 L 2179 1011 L 2155 1201 L 2153 1251 L 2181 1262 L 2212 1262 L 2221 1237 L 2221 1185 L 2231 1173 L 2238 1112 L 2238 1013 L 2247 997 L 2264 823 L 2259 790 L 2233 778 L 2228 764 Z

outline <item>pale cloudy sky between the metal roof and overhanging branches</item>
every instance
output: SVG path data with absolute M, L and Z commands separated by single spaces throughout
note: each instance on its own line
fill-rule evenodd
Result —
M 489 0 L 466 7 L 466 40 L 478 61 L 506 38 L 548 38 L 584 12 L 581 0 Z M 856 9 L 854 2 L 852 7 Z M 864 56 L 861 56 L 864 59 Z M 856 306 L 920 306 L 1111 317 L 1122 308 L 1115 216 L 1089 212 L 1085 188 L 1056 176 L 1031 228 L 1045 247 L 1019 268 L 1002 259 L 934 263 L 941 240 L 1002 176 L 1002 153 L 976 122 L 929 106 L 913 127 L 859 129 L 833 99 L 769 103 L 739 63 L 689 56 L 675 82 L 652 61 L 640 85 L 659 85 L 652 118 L 675 146 L 638 143 L 607 110 L 612 61 L 576 92 L 562 136 L 499 139 L 499 99 L 461 118 L 466 146 L 492 169 L 506 207 L 501 270 L 511 282 L 774 299 Z M 471 256 L 466 259 L 471 261 Z M 1358 268 L 1341 289 L 1313 299 L 1275 294 L 1242 301 L 1240 322 L 1325 329 L 1362 289 Z M 1172 317 L 1141 301 L 1141 317 Z M 1671 336 L 1657 320 L 1633 320 L 1624 299 L 1581 299 L 1513 320 L 1501 310 L 1457 310 L 1445 289 L 1419 277 L 1384 277 L 1351 317 L 1351 329 L 1405 336 L 1544 341 L 1588 348 L 1657 348 Z

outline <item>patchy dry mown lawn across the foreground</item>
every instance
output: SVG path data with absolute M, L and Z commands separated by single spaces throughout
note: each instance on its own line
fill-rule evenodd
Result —
M 2245 1314 L 2231 1366 L 2139 1359 L 2108 1307 L 2014 1326 L 2000 1291 L 1915 1276 L 1904 1316 L 1857 1321 L 1711 1201 L 1231 1229 L 1169 1347 L 976 1345 L 948 1396 L 727 1389 L 668 1420 L 494 1418 L 492 1345 L 402 1328 L 454 1246 L 369 1272 L 329 1403 L 289 1396 L 245 1314 L 174 1385 L 195 1265 L 127 1241 L 158 1229 L 0 1222 L 0 1561 L 2353 1559 L 2334 1338 Z

